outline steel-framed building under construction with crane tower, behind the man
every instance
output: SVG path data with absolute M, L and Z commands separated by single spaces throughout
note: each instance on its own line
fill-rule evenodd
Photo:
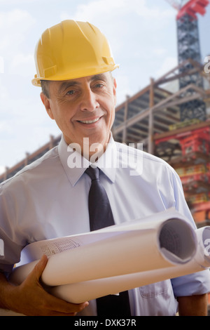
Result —
M 173 6 L 177 1 L 168 1 Z M 208 0 L 190 0 L 176 17 L 179 65 L 116 107 L 112 133 L 120 143 L 143 143 L 179 174 L 197 227 L 210 224 L 210 73 L 200 59 L 197 13 Z M 59 143 L 60 136 L 0 176 L 14 176 Z

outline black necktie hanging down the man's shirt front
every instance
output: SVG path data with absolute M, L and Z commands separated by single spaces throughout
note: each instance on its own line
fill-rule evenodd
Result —
M 98 230 L 114 225 L 106 190 L 99 182 L 99 169 L 90 166 L 85 172 L 92 180 L 88 197 L 90 230 Z M 109 295 L 97 298 L 97 315 L 103 317 L 131 316 L 128 292 L 120 292 L 118 296 Z

